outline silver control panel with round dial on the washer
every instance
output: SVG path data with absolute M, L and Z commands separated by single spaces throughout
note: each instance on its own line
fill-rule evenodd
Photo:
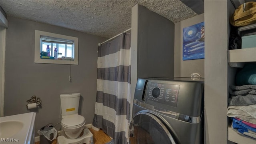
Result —
M 177 107 L 180 86 L 150 82 L 148 100 Z

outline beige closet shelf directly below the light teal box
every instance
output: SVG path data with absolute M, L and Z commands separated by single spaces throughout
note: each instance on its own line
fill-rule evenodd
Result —
M 244 62 L 256 62 L 256 48 L 228 50 L 228 63 L 232 67 L 243 67 Z

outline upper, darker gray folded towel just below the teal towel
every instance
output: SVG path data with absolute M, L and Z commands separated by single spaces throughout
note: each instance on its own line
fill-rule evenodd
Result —
M 229 93 L 234 96 L 255 94 L 256 95 L 256 85 L 244 85 L 244 86 L 230 86 Z

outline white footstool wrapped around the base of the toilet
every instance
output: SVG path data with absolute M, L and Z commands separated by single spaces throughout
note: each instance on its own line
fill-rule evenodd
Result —
M 57 144 L 93 144 L 92 132 L 88 128 L 84 129 L 84 134 L 76 139 L 68 139 L 65 136 L 58 136 Z

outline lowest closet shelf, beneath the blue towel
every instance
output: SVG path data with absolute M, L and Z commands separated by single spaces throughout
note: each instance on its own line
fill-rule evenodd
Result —
M 255 144 L 256 143 L 256 140 L 236 133 L 234 130 L 232 130 L 231 126 L 228 126 L 228 140 L 235 142 L 237 144 Z

